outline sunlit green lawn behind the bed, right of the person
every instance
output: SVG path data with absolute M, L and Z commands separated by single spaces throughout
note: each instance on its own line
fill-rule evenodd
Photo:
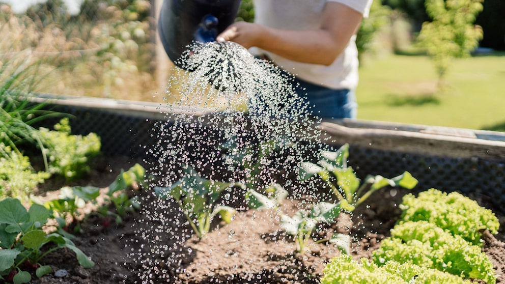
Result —
M 453 61 L 437 88 L 426 56 L 387 55 L 360 69 L 358 119 L 505 131 L 505 53 Z

